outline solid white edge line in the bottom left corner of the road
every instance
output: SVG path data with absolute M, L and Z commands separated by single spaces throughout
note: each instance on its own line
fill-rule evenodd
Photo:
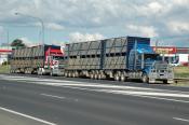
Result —
M 33 121 L 37 121 L 37 122 L 40 122 L 40 123 L 43 123 L 43 124 L 46 124 L 46 125 L 56 125 L 55 123 L 51 123 L 51 122 L 48 122 L 48 121 L 44 121 L 44 120 L 41 120 L 41 119 L 38 119 L 38 117 L 33 117 L 33 116 L 30 116 L 30 115 L 27 115 L 27 114 L 24 114 L 24 113 L 19 113 L 19 112 L 16 112 L 16 111 L 13 111 L 13 110 L 10 110 L 10 109 L 6 109 L 6 108 L 0 107 L 0 110 L 6 111 L 6 112 L 10 112 L 10 113 L 23 116 L 23 117 L 27 117 L 27 119 L 30 119 L 30 120 L 33 120 Z

